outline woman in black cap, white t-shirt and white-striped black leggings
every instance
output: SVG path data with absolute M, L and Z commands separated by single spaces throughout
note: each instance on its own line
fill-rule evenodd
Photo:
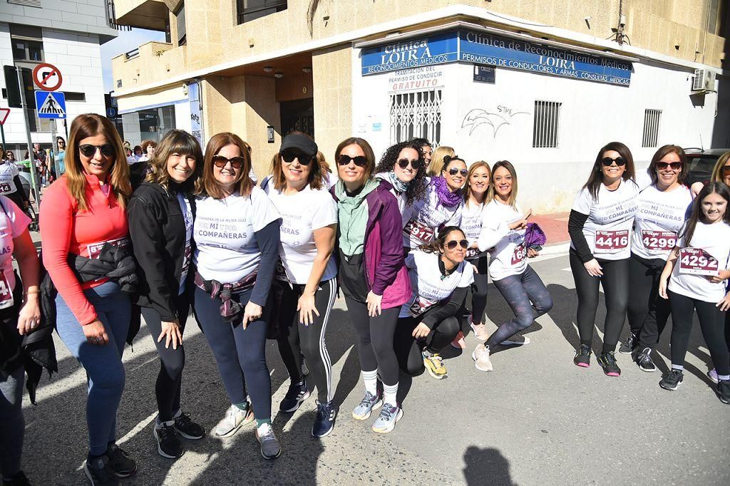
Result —
M 318 390 L 312 436 L 327 436 L 336 409 L 332 363 L 325 335 L 337 297 L 337 263 L 331 258 L 337 234 L 337 204 L 326 188 L 326 169 L 319 165 L 317 144 L 310 136 L 288 134 L 274 158 L 272 180 L 264 189 L 282 217 L 274 288 L 277 342 L 289 371 L 289 390 L 279 409 L 294 412 L 310 396 L 301 374 L 307 358 Z

